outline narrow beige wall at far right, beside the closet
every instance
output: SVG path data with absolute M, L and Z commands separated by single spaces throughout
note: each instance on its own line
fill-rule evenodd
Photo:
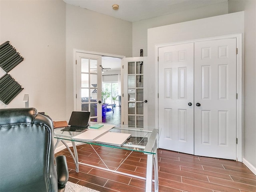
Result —
M 244 10 L 244 162 L 256 174 L 256 1 L 229 0 L 230 13 Z

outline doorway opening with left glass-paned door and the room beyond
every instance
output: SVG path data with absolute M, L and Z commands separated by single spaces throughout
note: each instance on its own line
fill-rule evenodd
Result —
M 120 126 L 122 121 L 120 96 L 123 84 L 121 61 L 125 56 L 76 49 L 74 49 L 74 55 L 74 110 L 90 111 L 90 121 Z M 103 104 L 102 84 L 103 82 L 112 82 L 109 78 L 111 76 L 118 76 L 115 80 L 119 86 L 118 110 L 114 108 L 116 100 L 112 101 L 111 93 L 108 96 L 110 102 L 107 105 Z M 112 108 L 112 112 L 107 113 L 106 108 Z

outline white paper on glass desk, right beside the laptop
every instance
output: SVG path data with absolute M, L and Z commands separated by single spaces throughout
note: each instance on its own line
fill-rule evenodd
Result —
M 86 132 L 83 132 L 77 136 L 72 137 L 74 140 L 80 141 L 94 141 L 95 139 L 99 138 L 110 129 L 112 129 L 114 125 L 104 124 L 101 128 L 98 129 L 88 129 Z

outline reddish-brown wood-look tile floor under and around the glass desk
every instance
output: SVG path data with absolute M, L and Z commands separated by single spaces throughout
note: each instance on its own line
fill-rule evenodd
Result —
M 127 150 L 94 146 L 110 169 L 119 166 Z M 104 167 L 88 144 L 79 145 L 80 162 Z M 72 149 L 72 148 L 71 148 Z M 145 181 L 80 165 L 76 173 L 68 150 L 69 181 L 100 192 L 144 192 Z M 119 171 L 146 176 L 146 155 L 132 152 Z M 256 192 L 256 176 L 241 162 L 205 158 L 158 149 L 159 192 Z M 153 188 L 154 189 L 154 188 Z

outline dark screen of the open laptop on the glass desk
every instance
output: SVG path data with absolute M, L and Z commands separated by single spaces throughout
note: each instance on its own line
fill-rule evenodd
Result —
M 90 112 L 88 111 L 73 111 L 70 116 L 68 125 L 87 127 L 89 118 L 90 118 Z

